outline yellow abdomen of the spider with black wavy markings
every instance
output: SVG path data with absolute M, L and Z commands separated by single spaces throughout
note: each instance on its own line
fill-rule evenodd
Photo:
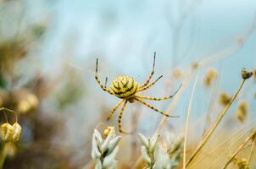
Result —
M 114 95 L 120 98 L 130 98 L 136 94 L 138 84 L 136 81 L 129 76 L 118 76 L 110 85 Z

